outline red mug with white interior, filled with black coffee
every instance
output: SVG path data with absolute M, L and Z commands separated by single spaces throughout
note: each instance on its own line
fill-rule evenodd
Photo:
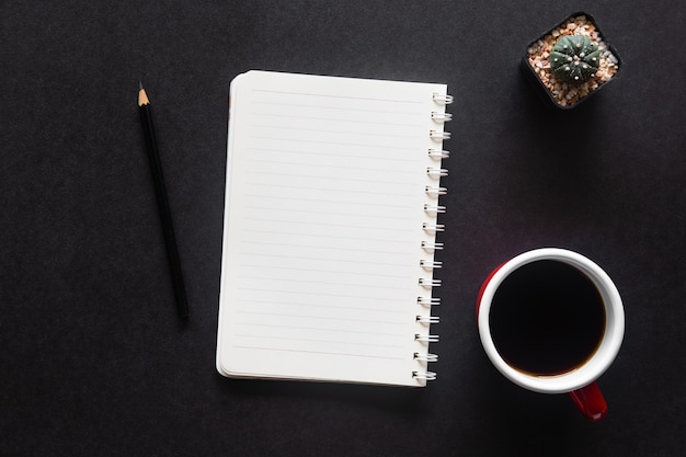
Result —
M 558 248 L 506 261 L 479 290 L 477 324 L 485 354 L 507 379 L 569 393 L 586 418 L 605 416 L 596 379 L 621 346 L 625 315 L 617 287 L 596 263 Z

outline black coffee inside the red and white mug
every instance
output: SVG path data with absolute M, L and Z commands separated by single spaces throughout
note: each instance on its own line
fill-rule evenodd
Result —
M 595 285 L 575 267 L 541 260 L 511 273 L 490 312 L 491 335 L 514 368 L 537 376 L 572 370 L 597 350 L 605 308 Z

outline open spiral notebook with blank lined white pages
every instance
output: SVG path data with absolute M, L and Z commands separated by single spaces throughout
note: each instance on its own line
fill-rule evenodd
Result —
M 267 71 L 230 87 L 217 370 L 425 386 L 445 84 Z

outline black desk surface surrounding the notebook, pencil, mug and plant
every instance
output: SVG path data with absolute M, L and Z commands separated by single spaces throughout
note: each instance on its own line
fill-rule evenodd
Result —
M 0 5 L 0 455 L 676 456 L 686 450 L 683 1 L 165 1 Z M 145 2 L 144 2 L 145 3 Z M 592 13 L 624 58 L 571 112 L 519 70 Z M 229 81 L 248 69 L 447 82 L 438 380 L 215 372 Z M 136 106 L 153 104 L 191 301 L 176 319 Z M 484 276 L 557 245 L 625 300 L 609 414 L 490 365 Z

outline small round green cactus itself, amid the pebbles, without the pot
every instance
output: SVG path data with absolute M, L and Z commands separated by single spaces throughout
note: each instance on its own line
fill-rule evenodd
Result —
M 585 35 L 562 36 L 550 52 L 550 68 L 560 79 L 583 82 L 595 76 L 601 64 L 598 44 Z

